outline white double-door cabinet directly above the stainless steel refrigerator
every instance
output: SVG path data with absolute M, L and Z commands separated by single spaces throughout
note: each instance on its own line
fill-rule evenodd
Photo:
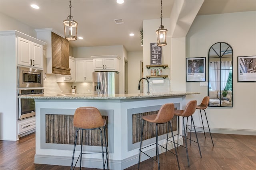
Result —
M 94 71 L 120 72 L 120 57 L 118 55 L 92 56 Z

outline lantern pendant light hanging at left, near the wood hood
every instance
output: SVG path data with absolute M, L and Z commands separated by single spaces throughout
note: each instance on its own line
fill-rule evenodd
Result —
M 77 33 L 77 22 L 73 20 L 71 16 L 71 0 L 69 1 L 69 16 L 67 20 L 63 21 L 64 24 L 64 33 L 65 38 L 69 41 L 76 40 L 76 33 Z

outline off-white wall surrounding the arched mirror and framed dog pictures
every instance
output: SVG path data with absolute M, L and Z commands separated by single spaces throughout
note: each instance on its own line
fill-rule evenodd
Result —
M 256 55 L 256 11 L 197 16 L 186 36 L 186 57 L 206 57 L 208 70 L 208 50 L 220 41 L 230 44 L 234 52 L 234 107 L 208 107 L 210 127 L 216 133 L 256 135 L 256 82 L 237 82 L 237 57 Z M 187 82 L 186 89 L 201 92 L 192 96 L 198 102 L 208 95 L 208 87 L 199 82 Z M 192 100 L 191 96 L 186 99 Z M 196 123 L 201 123 L 198 116 Z

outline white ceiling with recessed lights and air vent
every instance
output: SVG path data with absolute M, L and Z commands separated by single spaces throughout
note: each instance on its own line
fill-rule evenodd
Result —
M 169 18 L 174 0 L 163 0 L 163 18 Z M 30 4 L 37 4 L 35 10 Z M 72 0 L 71 15 L 78 22 L 78 36 L 72 47 L 124 45 L 127 51 L 142 51 L 143 20 L 160 18 L 160 0 Z M 63 20 L 69 16 L 68 0 L 0 0 L 0 12 L 34 29 L 53 28 L 64 34 Z M 206 0 L 198 15 L 256 10 L 256 0 Z M 116 24 L 114 19 L 124 24 Z M 159 23 L 160 25 L 160 23 Z M 164 23 L 163 23 L 164 25 Z M 158 29 L 158 27 L 156 27 Z M 129 33 L 134 33 L 130 37 Z

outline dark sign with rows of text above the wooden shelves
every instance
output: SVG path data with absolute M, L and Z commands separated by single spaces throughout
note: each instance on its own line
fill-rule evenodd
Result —
M 156 43 L 150 43 L 150 64 L 162 64 L 162 47 L 158 47 Z

